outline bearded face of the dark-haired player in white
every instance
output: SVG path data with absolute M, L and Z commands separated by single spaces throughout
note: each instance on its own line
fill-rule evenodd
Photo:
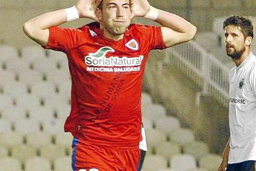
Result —
M 238 59 L 246 50 L 245 36 L 241 28 L 236 25 L 228 25 L 225 28 L 226 54 Z

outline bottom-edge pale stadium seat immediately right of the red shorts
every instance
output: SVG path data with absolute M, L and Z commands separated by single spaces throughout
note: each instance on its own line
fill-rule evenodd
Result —
M 143 170 L 157 171 L 159 168 L 167 168 L 166 158 L 161 155 L 146 155 L 143 164 Z

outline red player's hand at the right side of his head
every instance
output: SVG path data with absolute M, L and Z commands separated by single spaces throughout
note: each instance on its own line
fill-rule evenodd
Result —
M 147 0 L 130 0 L 131 18 L 143 17 L 150 10 L 150 4 Z

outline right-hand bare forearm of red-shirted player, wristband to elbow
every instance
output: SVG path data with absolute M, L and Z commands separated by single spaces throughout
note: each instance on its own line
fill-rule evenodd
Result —
M 192 25 L 192 23 L 188 22 L 182 17 L 166 11 L 160 10 L 155 22 L 158 22 L 162 26 L 170 28 L 173 31 L 186 34 L 188 40 L 193 39 L 196 34 L 196 26 Z

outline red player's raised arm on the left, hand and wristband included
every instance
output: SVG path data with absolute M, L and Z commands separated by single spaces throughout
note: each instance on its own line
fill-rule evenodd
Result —
M 28 20 L 23 25 L 23 31 L 28 37 L 42 46 L 48 44 L 49 30 L 51 26 L 57 26 L 80 17 L 88 17 L 97 20 L 95 16 L 96 4 L 99 0 L 79 0 L 73 7 L 52 11 Z

